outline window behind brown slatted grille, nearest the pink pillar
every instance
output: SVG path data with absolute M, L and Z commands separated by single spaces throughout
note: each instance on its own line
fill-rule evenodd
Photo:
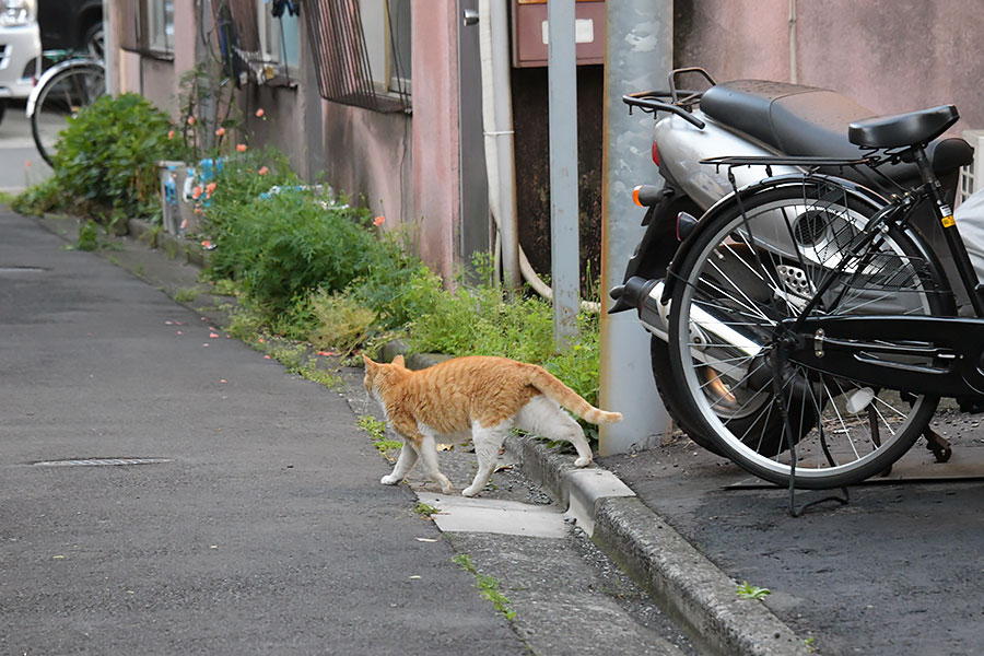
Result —
M 304 21 L 321 97 L 410 110 L 410 0 L 308 0 Z

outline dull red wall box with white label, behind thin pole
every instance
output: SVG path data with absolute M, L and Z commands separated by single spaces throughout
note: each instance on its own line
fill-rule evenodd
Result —
M 547 66 L 547 0 L 513 0 L 513 66 Z M 574 5 L 577 63 L 605 63 L 605 0 Z

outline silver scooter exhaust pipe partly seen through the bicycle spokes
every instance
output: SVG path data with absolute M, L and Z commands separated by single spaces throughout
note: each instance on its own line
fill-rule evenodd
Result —
M 639 320 L 646 330 L 667 341 L 670 304 L 660 303 L 663 289 L 663 279 L 646 280 L 633 276 L 625 284 L 612 289 L 610 294 L 618 306 L 635 307 Z M 728 326 L 728 318 L 716 314 L 698 305 L 690 306 L 690 337 L 694 349 L 703 351 L 708 344 L 726 343 L 751 358 L 762 351 L 762 347 L 751 336 Z M 711 339 L 712 336 L 714 339 Z

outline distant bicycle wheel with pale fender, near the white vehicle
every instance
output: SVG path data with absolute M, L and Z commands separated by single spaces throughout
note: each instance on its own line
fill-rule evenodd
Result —
M 55 63 L 31 91 L 27 118 L 38 153 L 55 166 L 61 131 L 82 107 L 106 92 L 106 70 L 101 59 L 68 50 L 48 50 L 44 58 Z

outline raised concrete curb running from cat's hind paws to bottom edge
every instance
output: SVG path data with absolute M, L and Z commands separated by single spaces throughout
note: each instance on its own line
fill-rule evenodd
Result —
M 810 653 L 765 605 L 739 599 L 737 583 L 613 473 L 596 466 L 577 469 L 570 455 L 560 455 L 532 437 L 511 436 L 506 449 L 524 475 L 570 505 L 569 512 L 591 540 L 686 626 L 703 649 L 739 656 Z

